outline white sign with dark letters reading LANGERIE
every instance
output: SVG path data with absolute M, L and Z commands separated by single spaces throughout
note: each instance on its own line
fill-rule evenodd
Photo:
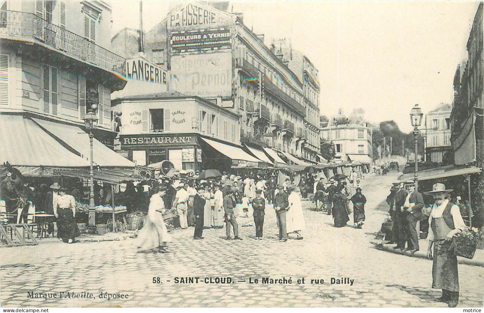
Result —
M 142 57 L 126 60 L 126 78 L 166 85 L 166 71 Z

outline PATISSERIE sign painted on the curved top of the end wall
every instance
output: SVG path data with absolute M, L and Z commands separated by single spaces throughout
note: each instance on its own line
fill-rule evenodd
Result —
M 199 3 L 188 3 L 178 10 L 169 13 L 168 28 L 199 25 L 214 26 L 227 22 L 227 17 L 210 6 Z

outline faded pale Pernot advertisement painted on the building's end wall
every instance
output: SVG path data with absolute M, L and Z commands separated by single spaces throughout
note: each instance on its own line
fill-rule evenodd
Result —
M 171 87 L 182 94 L 229 96 L 232 91 L 230 52 L 174 55 L 171 57 Z

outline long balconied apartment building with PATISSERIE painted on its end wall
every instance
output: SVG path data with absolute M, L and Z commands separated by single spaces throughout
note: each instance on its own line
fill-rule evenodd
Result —
M 308 151 L 317 149 L 303 148 L 309 136 L 304 130 L 308 123 L 318 125 L 318 115 L 314 114 L 314 122 L 306 117 L 303 82 L 264 44 L 263 35 L 250 30 L 241 14 L 228 13 L 227 8 L 197 1 L 174 7 L 144 35 L 146 59 L 166 66 L 169 90 L 203 97 L 239 115 L 236 137 L 259 156 L 273 155 L 272 149 L 276 149 L 284 158 L 286 154 L 313 158 L 315 153 Z M 113 46 L 120 51 L 134 50 L 122 47 L 129 42 L 128 32 L 113 38 Z M 305 66 L 309 68 L 309 64 Z M 306 71 L 317 75 L 316 69 Z M 317 101 L 316 96 L 308 96 L 311 98 Z M 312 129 L 314 136 L 317 130 Z M 318 147 L 316 139 L 311 141 Z

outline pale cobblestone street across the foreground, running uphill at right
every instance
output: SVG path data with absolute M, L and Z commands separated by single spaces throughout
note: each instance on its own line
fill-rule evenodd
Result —
M 377 249 L 376 234 L 386 214 L 375 208 L 396 177 L 391 172 L 363 180 L 363 194 L 368 199 L 363 229 L 351 227 L 352 216 L 347 227 L 338 229 L 330 216 L 305 209 L 303 240 L 278 242 L 275 214 L 269 207 L 264 240 L 254 240 L 253 226 L 239 226 L 242 241 L 223 240 L 225 229 L 205 230 L 204 240 L 191 239 L 193 228 L 175 230 L 167 254 L 137 253 L 133 239 L 3 248 L 1 306 L 447 307 L 434 301 L 440 291 L 430 288 L 431 261 Z M 238 221 L 239 225 L 253 224 L 252 219 Z M 458 268 L 458 306 L 482 307 L 483 268 L 463 264 Z M 158 277 L 160 283 L 153 283 Z M 176 277 L 230 277 L 233 282 L 175 283 Z M 292 283 L 263 284 L 263 277 L 291 278 Z M 302 278 L 305 283 L 298 283 Z M 354 282 L 331 284 L 331 278 Z M 249 279 L 258 279 L 258 283 L 249 283 Z M 27 292 L 58 296 L 29 298 Z M 62 298 L 60 292 L 64 292 Z M 87 292 L 94 298 L 65 298 L 67 292 Z M 127 294 L 128 298 L 99 298 L 104 292 Z

